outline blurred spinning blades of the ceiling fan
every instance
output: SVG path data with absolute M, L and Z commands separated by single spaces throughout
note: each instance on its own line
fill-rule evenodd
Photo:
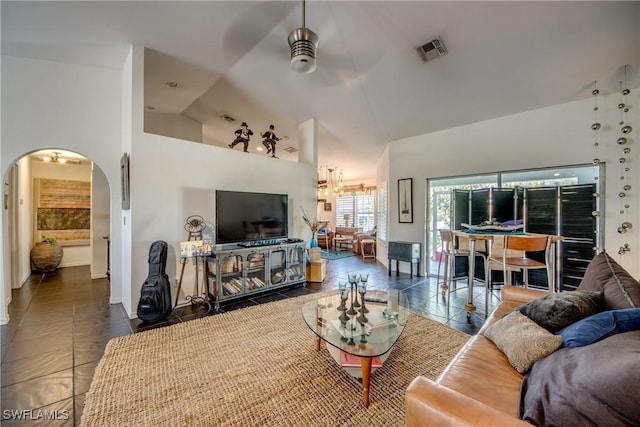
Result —
M 313 75 L 311 81 L 314 85 L 323 87 L 347 84 L 368 72 L 380 60 L 382 51 L 379 46 L 363 41 L 378 37 L 374 22 L 364 28 L 362 38 L 354 39 L 343 35 L 342 26 L 349 24 L 344 19 L 341 20 L 342 22 L 336 19 L 349 16 L 351 19 L 363 20 L 366 23 L 368 21 L 364 18 L 368 14 L 368 6 L 359 2 L 312 2 L 311 4 L 315 8 L 314 26 L 319 26 L 322 30 L 319 32 L 323 33 L 321 61 L 318 61 L 319 36 L 306 26 L 306 2 L 303 0 L 302 26 L 293 31 L 286 28 L 287 16 L 300 7 L 300 3 L 258 2 L 244 9 L 242 14 L 229 25 L 222 39 L 223 50 L 229 64 L 240 61 L 258 46 L 262 54 L 268 52 L 272 57 L 279 58 L 282 58 L 282 54 L 287 49 L 290 67 L 300 74 Z M 247 22 L 251 22 L 251 25 L 247 26 Z M 287 44 L 282 42 L 282 37 L 287 37 Z M 268 42 L 264 43 L 265 40 Z M 351 55 L 357 55 L 358 67 L 355 67 L 350 58 Z

